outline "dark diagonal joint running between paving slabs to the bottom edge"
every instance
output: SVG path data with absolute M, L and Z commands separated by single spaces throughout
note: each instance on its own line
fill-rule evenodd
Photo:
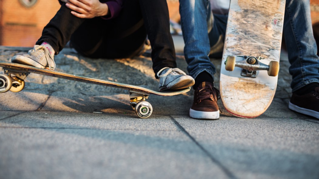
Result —
M 221 164 L 221 162 L 219 162 L 217 159 L 215 159 L 202 145 L 199 144 L 199 142 L 197 142 L 197 140 L 190 135 L 189 132 L 186 131 L 186 129 L 184 129 L 184 127 L 182 127 L 182 125 L 180 125 L 172 116 L 171 116 L 172 121 L 175 123 L 175 125 L 177 125 L 178 128 L 180 128 L 182 130 L 182 132 L 184 134 L 186 134 L 190 140 L 192 140 L 206 155 L 208 155 L 208 157 L 211 159 L 211 161 L 215 164 L 217 164 L 219 166 L 219 168 L 221 168 L 224 173 L 229 177 L 229 178 L 236 178 L 235 175 L 230 172 L 223 164 Z

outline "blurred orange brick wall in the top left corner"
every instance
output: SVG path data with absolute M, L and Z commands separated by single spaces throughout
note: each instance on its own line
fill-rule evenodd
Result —
M 32 7 L 21 2 L 0 0 L 0 45 L 33 47 L 42 29 L 60 8 L 57 0 L 37 0 Z

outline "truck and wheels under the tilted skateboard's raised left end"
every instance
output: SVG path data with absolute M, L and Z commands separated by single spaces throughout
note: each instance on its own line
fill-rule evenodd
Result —
M 9 90 L 12 92 L 19 92 L 24 89 L 24 79 L 26 79 L 30 72 L 4 68 L 4 74 L 6 75 L 0 75 L 0 93 Z

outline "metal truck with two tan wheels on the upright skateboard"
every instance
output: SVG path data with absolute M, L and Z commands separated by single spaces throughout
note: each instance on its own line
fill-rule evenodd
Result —
M 264 58 L 254 56 L 237 56 L 241 61 L 236 61 L 235 56 L 228 56 L 225 61 L 225 69 L 233 71 L 235 67 L 240 67 L 241 76 L 256 78 L 257 70 L 267 70 L 269 76 L 277 76 L 279 72 L 278 61 L 270 61 L 269 65 L 263 64 L 259 60 Z

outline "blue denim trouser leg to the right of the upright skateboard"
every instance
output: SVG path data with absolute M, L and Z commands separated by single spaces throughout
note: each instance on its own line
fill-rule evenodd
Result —
M 319 57 L 313 35 L 309 0 L 286 0 L 284 35 L 291 64 L 291 88 L 319 82 Z

